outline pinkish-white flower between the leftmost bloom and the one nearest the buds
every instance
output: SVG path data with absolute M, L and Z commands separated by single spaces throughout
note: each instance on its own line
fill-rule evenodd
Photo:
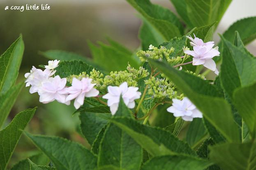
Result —
M 46 82 L 42 83 L 42 87 L 39 89 L 38 94 L 39 102 L 49 103 L 57 100 L 60 103 L 70 104 L 70 101 L 66 102 L 67 88 L 65 88 L 67 79 L 61 79 L 60 76 L 50 77 Z

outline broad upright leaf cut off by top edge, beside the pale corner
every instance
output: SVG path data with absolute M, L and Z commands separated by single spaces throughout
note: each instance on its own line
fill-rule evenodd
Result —
M 186 0 L 187 16 L 193 27 L 219 22 L 232 0 Z M 186 10 L 186 9 L 183 9 Z M 217 27 L 217 25 L 215 25 Z

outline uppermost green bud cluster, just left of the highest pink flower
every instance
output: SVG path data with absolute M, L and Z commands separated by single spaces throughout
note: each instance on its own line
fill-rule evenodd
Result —
M 173 60 L 177 60 L 177 63 L 182 61 L 182 59 L 180 57 L 177 58 L 170 58 L 171 53 L 174 52 L 174 48 L 171 49 L 167 49 L 164 46 L 160 46 L 160 48 L 154 47 L 153 45 L 149 46 L 149 50 L 147 51 L 143 51 L 140 50 L 137 52 L 137 57 L 139 57 L 139 59 L 144 62 L 147 61 L 147 58 L 150 59 L 155 59 L 155 60 L 159 60 L 162 61 L 164 60 L 164 57 L 166 58 L 166 60 L 168 62 L 173 62 Z

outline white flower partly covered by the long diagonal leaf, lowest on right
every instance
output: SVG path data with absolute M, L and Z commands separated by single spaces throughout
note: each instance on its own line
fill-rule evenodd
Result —
M 203 114 L 187 97 L 184 97 L 183 100 L 173 99 L 173 105 L 168 107 L 167 111 L 173 113 L 175 117 L 181 116 L 185 121 L 192 121 L 193 118 L 203 118 Z

